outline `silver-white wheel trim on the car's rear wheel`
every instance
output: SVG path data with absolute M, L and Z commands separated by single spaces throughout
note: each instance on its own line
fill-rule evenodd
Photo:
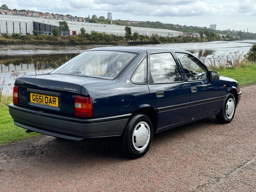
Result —
M 150 128 L 148 123 L 139 122 L 133 130 L 133 147 L 137 151 L 143 151 L 149 144 Z

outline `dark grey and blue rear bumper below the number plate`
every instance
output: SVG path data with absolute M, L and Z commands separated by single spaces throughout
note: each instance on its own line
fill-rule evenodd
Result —
M 71 140 L 85 138 L 120 136 L 131 114 L 78 119 L 44 111 L 9 105 L 9 113 L 15 125 L 30 131 Z

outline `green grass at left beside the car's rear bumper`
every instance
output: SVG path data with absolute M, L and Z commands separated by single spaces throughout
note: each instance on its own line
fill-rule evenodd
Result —
M 25 129 L 20 128 L 13 123 L 13 119 L 9 114 L 8 106 L 11 96 L 2 96 L 0 104 L 0 145 L 15 142 L 21 139 L 39 136 L 39 133 L 26 133 Z

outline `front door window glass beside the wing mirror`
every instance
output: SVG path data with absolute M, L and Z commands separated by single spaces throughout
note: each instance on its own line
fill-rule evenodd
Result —
M 183 66 L 188 81 L 208 79 L 207 69 L 197 58 L 187 53 L 175 53 Z

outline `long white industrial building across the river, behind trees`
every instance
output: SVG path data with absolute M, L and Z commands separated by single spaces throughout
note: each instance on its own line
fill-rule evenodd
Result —
M 32 34 L 33 30 L 37 30 L 39 34 L 50 34 L 53 28 L 59 29 L 59 21 L 56 19 L 46 19 L 39 17 L 23 17 L 14 15 L 0 14 L 0 33 L 17 33 L 17 34 Z M 125 26 L 87 23 L 78 21 L 66 21 L 69 26 L 69 32 L 65 35 L 78 35 L 80 29 L 84 27 L 86 32 L 97 31 L 105 34 L 114 34 L 118 36 L 125 36 Z M 168 29 L 154 29 L 145 27 L 131 27 L 132 32 L 138 32 L 139 35 L 152 36 L 157 35 L 161 37 L 177 37 L 183 35 L 183 32 L 168 30 Z

